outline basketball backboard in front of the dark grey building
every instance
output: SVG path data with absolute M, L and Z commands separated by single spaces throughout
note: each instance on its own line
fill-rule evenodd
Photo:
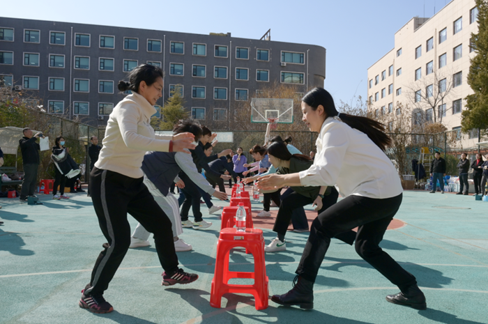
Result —
M 268 118 L 293 123 L 293 99 L 252 98 L 251 111 L 251 123 L 268 123 Z

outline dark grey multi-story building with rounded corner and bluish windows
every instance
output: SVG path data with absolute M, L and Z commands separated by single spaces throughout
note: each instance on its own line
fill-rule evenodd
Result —
M 104 125 L 123 98 L 119 80 L 142 63 L 165 71 L 158 105 L 180 91 L 193 118 L 222 121 L 273 82 L 323 86 L 317 45 L 0 17 L 0 85 L 30 92 L 51 114 Z

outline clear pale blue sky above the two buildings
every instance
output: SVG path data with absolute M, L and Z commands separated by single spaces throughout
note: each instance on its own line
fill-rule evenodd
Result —
M 231 32 L 327 49 L 325 88 L 339 100 L 366 98 L 367 68 L 394 47 L 412 17 L 432 17 L 449 0 L 2 1 L 0 16 L 208 34 Z M 425 15 L 424 15 L 425 13 Z M 1 25 L 1 23 L 0 23 Z

